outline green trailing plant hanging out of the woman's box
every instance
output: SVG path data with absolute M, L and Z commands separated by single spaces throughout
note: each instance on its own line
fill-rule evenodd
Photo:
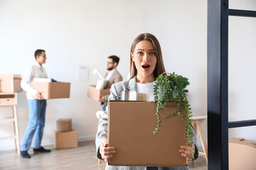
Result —
M 154 84 L 154 101 L 156 102 L 156 116 L 157 125 L 154 130 L 154 134 L 159 132 L 161 127 L 160 112 L 163 112 L 164 107 L 176 108 L 176 110 L 168 115 L 165 119 L 169 119 L 173 116 L 180 116 L 186 122 L 186 141 L 188 146 L 191 147 L 193 144 L 193 128 L 192 123 L 192 113 L 190 105 L 188 104 L 188 99 L 186 98 L 186 86 L 189 82 L 186 77 L 173 74 L 161 74 L 156 78 Z M 174 104 L 167 105 L 168 102 L 174 102 Z M 192 149 L 192 148 L 191 148 Z M 194 153 L 193 153 L 194 154 Z M 194 160 L 194 156 L 193 156 Z

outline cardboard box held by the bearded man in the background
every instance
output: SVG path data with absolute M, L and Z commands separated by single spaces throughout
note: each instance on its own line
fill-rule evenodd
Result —
M 96 89 L 95 85 L 87 86 L 87 96 L 94 99 L 95 101 L 100 100 L 100 96 L 106 96 L 110 94 L 110 89 Z

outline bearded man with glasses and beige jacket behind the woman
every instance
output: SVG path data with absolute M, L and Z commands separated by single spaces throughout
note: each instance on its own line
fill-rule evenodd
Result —
M 107 57 L 107 73 L 105 74 L 105 80 L 107 80 L 106 89 L 109 89 L 112 84 L 122 81 L 122 76 L 117 72 L 117 65 L 119 63 L 119 57 L 111 55 Z M 100 96 L 100 102 L 102 104 L 103 111 L 106 109 L 107 96 Z

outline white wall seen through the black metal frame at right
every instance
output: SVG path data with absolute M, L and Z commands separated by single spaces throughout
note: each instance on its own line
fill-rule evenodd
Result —
M 255 0 L 230 0 L 230 8 L 256 11 Z M 256 119 L 256 18 L 229 17 L 229 121 Z M 230 137 L 256 140 L 256 126 L 233 128 Z

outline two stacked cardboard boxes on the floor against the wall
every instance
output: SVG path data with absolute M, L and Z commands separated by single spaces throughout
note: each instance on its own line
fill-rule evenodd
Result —
M 78 147 L 78 132 L 72 129 L 71 119 L 58 119 L 57 130 L 54 131 L 54 147 L 56 149 Z

